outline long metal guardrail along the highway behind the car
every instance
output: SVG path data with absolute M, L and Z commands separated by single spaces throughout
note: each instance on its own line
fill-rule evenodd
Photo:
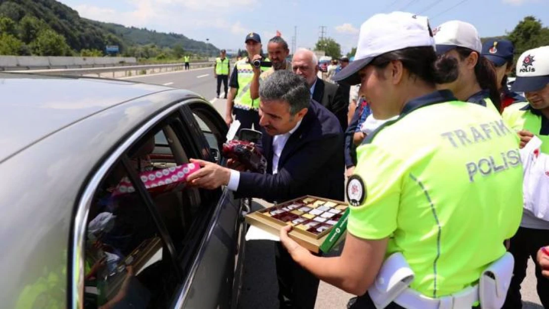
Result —
M 153 70 L 155 72 L 156 69 L 159 69 L 159 72 L 162 71 L 162 69 L 172 69 L 175 70 L 178 67 L 181 67 L 181 69 L 184 68 L 184 63 L 175 63 L 175 64 L 149 64 L 149 65 L 126 65 L 126 66 L 109 66 L 106 68 L 77 68 L 77 69 L 44 69 L 44 70 L 13 70 L 13 71 L 6 71 L 6 72 L 18 72 L 18 73 L 36 73 L 36 74 L 45 74 L 45 75 L 86 75 L 86 74 L 97 74 L 97 76 L 100 76 L 102 73 L 113 73 L 113 77 L 115 77 L 115 72 L 121 72 L 125 71 L 131 72 L 131 71 L 147 71 L 147 70 Z M 213 66 L 214 63 L 212 62 L 203 62 L 203 63 L 189 63 L 190 68 L 207 68 L 209 66 Z

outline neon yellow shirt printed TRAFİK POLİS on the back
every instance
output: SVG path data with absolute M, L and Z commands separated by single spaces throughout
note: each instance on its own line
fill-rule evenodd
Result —
M 517 134 L 484 106 L 423 106 L 357 149 L 363 201 L 348 231 L 388 238 L 416 274 L 410 287 L 439 298 L 478 282 L 505 254 L 522 215 Z

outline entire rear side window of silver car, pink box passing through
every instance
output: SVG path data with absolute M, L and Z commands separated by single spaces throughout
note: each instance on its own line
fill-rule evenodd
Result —
M 177 116 L 154 127 L 96 189 L 84 252 L 86 309 L 171 304 L 180 282 L 175 261 L 200 212 L 201 193 L 182 182 L 192 170 L 183 128 Z

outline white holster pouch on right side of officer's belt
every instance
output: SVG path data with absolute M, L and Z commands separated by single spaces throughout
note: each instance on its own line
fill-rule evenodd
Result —
M 513 255 L 506 252 L 482 273 L 479 281 L 481 308 L 500 309 L 503 306 L 513 277 L 513 267 Z

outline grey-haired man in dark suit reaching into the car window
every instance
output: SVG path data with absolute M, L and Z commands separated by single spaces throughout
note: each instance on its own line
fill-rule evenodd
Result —
M 286 70 L 266 78 L 259 92 L 267 173 L 238 172 L 192 160 L 202 168 L 188 181 L 206 189 L 226 185 L 236 195 L 269 201 L 304 195 L 343 200 L 343 131 L 335 116 L 311 100 L 304 78 Z M 318 279 L 290 259 L 280 244 L 278 247 L 280 307 L 312 309 Z

